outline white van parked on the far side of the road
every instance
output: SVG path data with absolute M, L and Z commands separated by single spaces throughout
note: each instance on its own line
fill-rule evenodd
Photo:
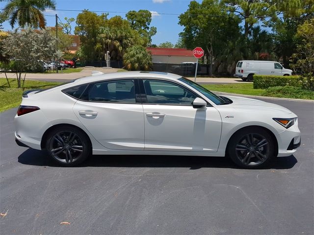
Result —
M 254 74 L 289 76 L 291 73 L 292 70 L 285 69 L 275 61 L 240 60 L 236 64 L 234 76 L 240 77 L 244 81 L 253 81 Z

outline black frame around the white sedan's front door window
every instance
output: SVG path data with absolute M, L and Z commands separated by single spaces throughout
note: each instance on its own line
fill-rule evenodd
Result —
M 146 79 L 146 80 L 157 80 L 157 81 L 161 81 L 161 82 L 169 82 L 169 83 L 172 83 L 172 84 L 174 84 L 174 85 L 176 85 L 176 86 L 181 87 L 181 88 L 184 89 L 184 90 L 189 91 L 190 93 L 194 94 L 196 97 L 199 97 L 199 98 L 201 98 L 201 99 L 204 99 L 204 98 L 202 98 L 199 94 L 196 94 L 194 91 L 190 90 L 190 89 L 187 88 L 187 87 L 184 87 L 182 84 L 177 83 L 177 82 L 175 82 L 175 81 L 166 80 L 166 79 L 159 79 L 159 78 L 155 78 L 155 77 L 154 77 L 154 78 L 139 78 L 139 79 L 138 79 L 138 80 L 139 80 L 139 84 L 140 84 L 139 87 L 140 87 L 141 98 L 142 98 L 142 103 L 143 103 L 143 104 L 175 105 L 175 106 L 193 106 L 192 104 L 159 104 L 159 103 L 148 103 L 148 101 L 147 101 L 147 96 L 146 96 L 146 92 L 145 92 L 145 88 L 144 88 L 144 82 L 143 82 L 144 79 Z M 207 102 L 207 106 L 211 106 L 208 101 L 206 101 L 206 102 Z

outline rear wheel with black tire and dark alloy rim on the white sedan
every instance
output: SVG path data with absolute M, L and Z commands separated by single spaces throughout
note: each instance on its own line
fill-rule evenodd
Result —
M 54 162 L 62 166 L 75 166 L 91 154 L 88 136 L 73 126 L 60 126 L 47 137 L 46 149 Z

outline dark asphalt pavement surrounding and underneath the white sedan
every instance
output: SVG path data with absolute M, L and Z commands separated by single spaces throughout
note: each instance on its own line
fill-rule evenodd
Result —
M 17 109 L 1 113 L 0 234 L 314 234 L 314 103 L 265 101 L 299 116 L 302 139 L 259 170 L 182 156 L 59 167 L 16 145 Z

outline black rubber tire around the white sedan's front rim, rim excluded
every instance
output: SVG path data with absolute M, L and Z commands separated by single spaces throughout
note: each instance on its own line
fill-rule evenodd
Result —
M 269 143 L 269 156 L 266 159 L 266 161 L 264 161 L 261 164 L 258 165 L 245 165 L 243 164 L 236 156 L 235 153 L 235 146 L 237 145 L 238 141 L 240 141 L 240 139 L 249 134 L 249 133 L 256 133 L 259 135 L 262 135 Z M 256 169 L 256 168 L 263 168 L 265 167 L 267 164 L 269 164 L 272 159 L 275 157 L 275 141 L 273 140 L 273 137 L 264 129 L 260 128 L 260 127 L 249 127 L 249 128 L 245 128 L 243 130 L 238 131 L 229 141 L 228 143 L 228 147 L 227 147 L 227 152 L 229 157 L 231 158 L 231 160 L 238 166 L 242 167 L 242 168 L 247 168 L 247 169 Z

